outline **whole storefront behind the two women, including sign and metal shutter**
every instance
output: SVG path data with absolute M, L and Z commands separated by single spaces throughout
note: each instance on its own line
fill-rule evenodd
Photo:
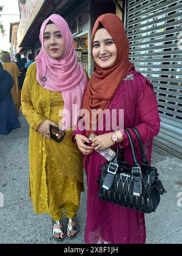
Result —
M 92 75 L 90 40 L 103 13 L 124 21 L 130 61 L 152 83 L 157 95 L 161 131 L 155 144 L 182 158 L 182 0 L 27 0 L 21 2 L 19 46 L 37 55 L 39 29 L 52 13 L 69 24 L 80 62 Z

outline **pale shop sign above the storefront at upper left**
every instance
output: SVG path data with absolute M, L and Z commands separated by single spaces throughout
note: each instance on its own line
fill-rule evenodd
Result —
M 21 21 L 18 28 L 18 45 L 22 43 L 22 40 L 27 33 L 27 30 L 31 26 L 36 15 L 45 0 L 27 0 L 25 4 L 21 5 Z

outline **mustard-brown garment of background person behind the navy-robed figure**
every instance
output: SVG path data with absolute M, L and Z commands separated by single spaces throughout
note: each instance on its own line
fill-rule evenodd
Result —
M 4 62 L 2 63 L 2 66 L 4 70 L 8 71 L 8 73 L 10 73 L 10 75 L 13 77 L 14 85 L 12 87 L 11 93 L 12 93 L 13 101 L 15 103 L 16 112 L 19 115 L 19 107 L 21 105 L 19 82 L 18 82 L 18 77 L 20 76 L 19 68 L 15 63 L 10 63 L 10 62 Z

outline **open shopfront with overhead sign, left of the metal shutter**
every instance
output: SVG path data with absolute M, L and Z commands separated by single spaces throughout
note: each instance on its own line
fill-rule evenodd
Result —
M 96 18 L 103 13 L 118 13 L 123 1 L 112 0 L 27 0 L 19 1 L 21 22 L 18 31 L 19 46 L 26 51 L 32 51 L 34 57 L 38 54 L 39 29 L 42 22 L 52 13 L 63 16 L 69 24 L 75 41 L 78 61 L 92 74 L 90 57 L 91 30 Z

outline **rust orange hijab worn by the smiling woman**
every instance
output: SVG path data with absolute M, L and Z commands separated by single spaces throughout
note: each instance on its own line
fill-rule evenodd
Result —
M 92 109 L 104 110 L 108 107 L 116 89 L 126 77 L 126 73 L 134 69 L 133 64 L 129 62 L 129 41 L 123 23 L 113 13 L 101 15 L 96 20 L 92 30 L 92 49 L 93 39 L 100 23 L 112 36 L 117 49 L 117 57 L 114 65 L 108 69 L 102 69 L 95 63 L 94 73 L 87 85 L 82 107 L 89 110 L 90 116 Z M 89 134 L 88 131 L 87 135 Z

